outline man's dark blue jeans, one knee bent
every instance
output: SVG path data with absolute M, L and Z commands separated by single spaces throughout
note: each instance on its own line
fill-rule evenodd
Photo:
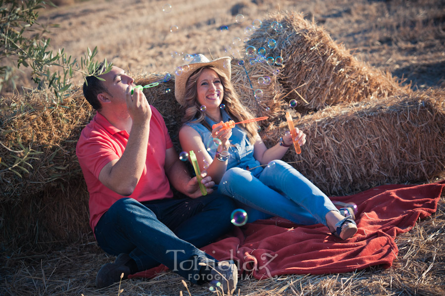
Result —
M 196 283 L 198 263 L 217 262 L 198 248 L 231 228 L 234 209 L 233 200 L 217 192 L 143 204 L 122 198 L 102 215 L 94 234 L 100 248 L 113 255 L 129 254 L 139 271 L 162 263 Z

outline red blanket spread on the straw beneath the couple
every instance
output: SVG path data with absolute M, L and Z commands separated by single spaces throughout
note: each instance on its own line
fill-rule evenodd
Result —
M 301 226 L 274 217 L 233 231 L 204 248 L 218 260 L 234 259 L 240 272 L 257 279 L 282 274 L 351 272 L 368 266 L 389 268 L 399 252 L 394 238 L 437 209 L 445 184 L 383 185 L 333 201 L 355 203 L 358 232 L 346 241 L 322 224 Z M 158 267 L 130 277 L 153 277 Z

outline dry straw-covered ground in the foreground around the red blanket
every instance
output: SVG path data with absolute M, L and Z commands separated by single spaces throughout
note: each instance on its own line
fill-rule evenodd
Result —
M 352 273 L 331 275 L 288 275 L 258 281 L 243 277 L 234 295 L 444 295 L 445 285 L 445 196 L 432 216 L 418 221 L 414 228 L 396 238 L 399 254 L 389 269 L 379 266 Z M 2 256 L 4 264 L 0 291 L 2 295 L 118 295 L 119 284 L 96 290 L 97 270 L 108 257 L 89 241 L 68 246 L 55 252 L 16 251 Z M 162 273 L 153 279 L 123 281 L 121 295 L 177 296 L 188 295 L 182 278 L 173 272 Z M 209 295 L 208 286 L 188 283 L 191 295 Z

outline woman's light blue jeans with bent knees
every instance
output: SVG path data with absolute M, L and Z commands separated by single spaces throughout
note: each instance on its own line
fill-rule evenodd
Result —
M 228 169 L 218 191 L 247 211 L 247 222 L 279 216 L 296 224 L 326 225 L 326 213 L 338 211 L 318 187 L 281 160 L 271 161 L 258 177 L 245 169 Z

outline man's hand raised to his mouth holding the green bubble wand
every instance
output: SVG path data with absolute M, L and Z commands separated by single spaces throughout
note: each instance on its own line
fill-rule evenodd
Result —
M 134 89 L 133 94 L 132 89 Z M 134 124 L 141 125 L 150 122 L 151 108 L 142 90 L 129 85 L 125 93 L 125 98 L 127 100 L 128 113 Z

